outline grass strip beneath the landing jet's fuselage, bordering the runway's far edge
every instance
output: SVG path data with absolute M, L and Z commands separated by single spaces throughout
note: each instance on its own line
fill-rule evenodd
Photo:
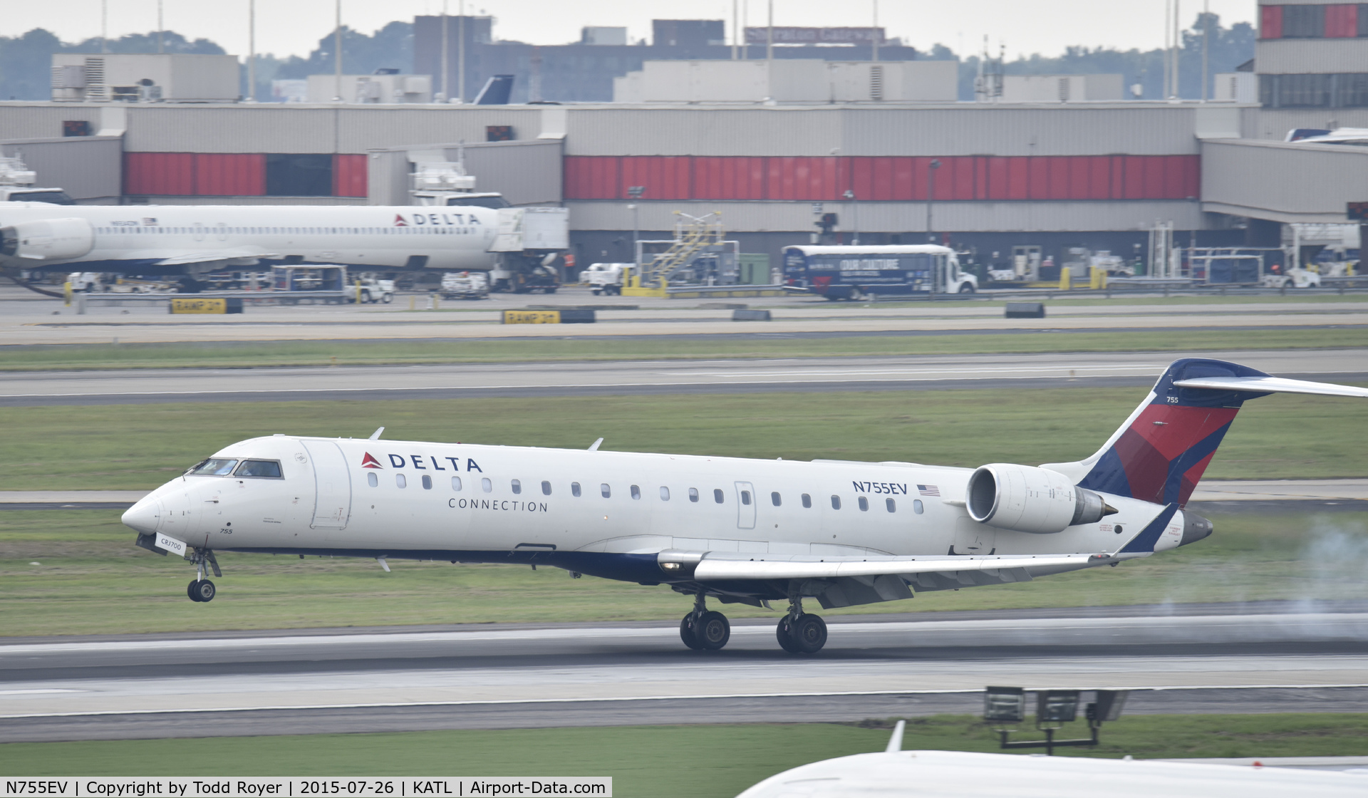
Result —
M 1216 532 L 1116 568 L 1029 583 L 918 593 L 824 616 L 888 612 L 1368 600 L 1368 513 L 1212 515 Z M 691 606 L 643 587 L 517 565 L 453 565 L 219 553 L 211 604 L 185 597 L 192 567 L 133 545 L 118 511 L 0 512 L 0 635 L 365 627 L 451 623 L 677 620 Z M 728 605 L 728 616 L 777 612 Z M 833 645 L 839 647 L 839 632 Z

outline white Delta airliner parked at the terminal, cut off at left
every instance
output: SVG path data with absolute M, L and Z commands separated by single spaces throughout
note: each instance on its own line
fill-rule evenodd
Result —
M 0 264 L 197 276 L 260 261 L 488 270 L 498 211 L 0 203 Z

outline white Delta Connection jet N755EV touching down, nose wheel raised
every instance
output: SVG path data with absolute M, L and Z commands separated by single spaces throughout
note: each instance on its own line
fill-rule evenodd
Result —
M 1078 463 L 915 463 L 683 454 L 272 435 L 233 443 L 133 505 L 145 549 L 555 565 L 694 595 L 692 649 L 731 636 L 724 604 L 788 601 L 780 645 L 814 653 L 803 612 L 1118 565 L 1200 541 L 1185 512 L 1242 402 L 1270 393 L 1368 397 L 1219 360 L 1178 360 Z

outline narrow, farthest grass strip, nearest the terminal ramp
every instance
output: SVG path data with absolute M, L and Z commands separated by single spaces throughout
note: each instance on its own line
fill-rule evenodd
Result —
M 1308 316 L 1315 323 L 1315 316 Z M 1194 326 L 1201 319 L 1193 320 Z M 358 335 L 364 335 L 364 327 Z M 763 333 L 763 330 L 757 330 Z M 193 344 L 90 344 L 0 346 L 0 371 L 129 368 L 260 368 L 286 365 L 386 365 L 424 363 L 528 363 L 562 360 L 700 360 L 717 357 L 867 357 L 1041 352 L 1192 352 L 1215 349 L 1339 349 L 1368 346 L 1368 327 L 1134 330 L 1116 333 L 1014 331 L 1003 334 L 908 333 L 832 338 L 659 335 L 622 338 L 523 338 L 482 341 L 341 339 L 213 341 Z

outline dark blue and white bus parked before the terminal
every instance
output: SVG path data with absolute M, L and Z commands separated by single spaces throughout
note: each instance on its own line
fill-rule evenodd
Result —
M 784 281 L 828 300 L 978 290 L 978 278 L 959 270 L 955 250 L 934 244 L 785 246 Z

